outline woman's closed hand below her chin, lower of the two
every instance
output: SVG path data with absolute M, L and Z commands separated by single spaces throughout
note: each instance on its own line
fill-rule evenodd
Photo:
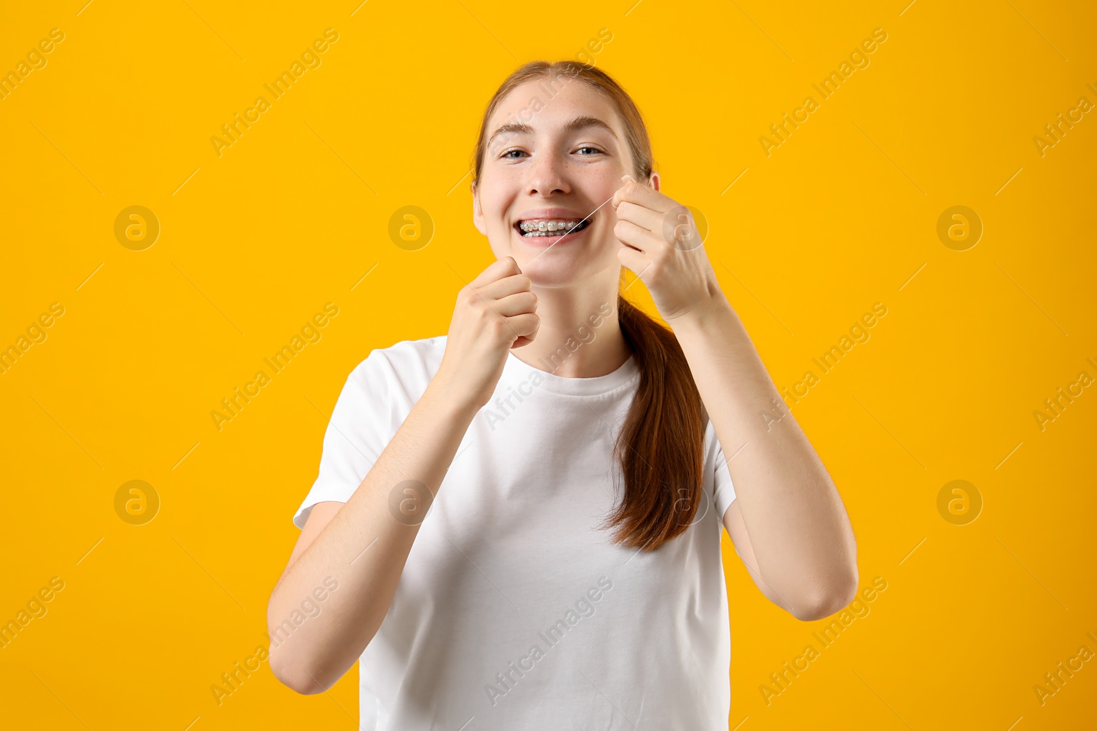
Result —
M 445 353 L 434 381 L 477 411 L 491 400 L 511 348 L 536 337 L 541 318 L 530 278 L 512 257 L 488 266 L 457 292 L 445 338 Z

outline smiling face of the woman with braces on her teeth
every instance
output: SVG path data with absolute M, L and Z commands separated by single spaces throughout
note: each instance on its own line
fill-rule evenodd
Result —
M 610 269 L 615 281 L 621 243 L 613 206 L 570 226 L 609 200 L 621 176 L 635 177 L 632 155 L 613 102 L 580 79 L 561 87 L 562 80 L 555 87 L 548 79 L 527 81 L 496 108 L 473 223 L 497 259 L 513 257 L 535 284 L 565 285 Z M 542 223 L 548 235 L 523 235 L 521 224 L 540 229 Z

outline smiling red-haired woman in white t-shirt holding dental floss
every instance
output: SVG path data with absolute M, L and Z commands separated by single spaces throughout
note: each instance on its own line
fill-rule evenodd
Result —
M 721 530 L 762 594 L 818 619 L 857 591 L 841 499 L 612 78 L 514 71 L 472 191 L 496 261 L 448 335 L 348 378 L 271 668 L 319 693 L 361 659 L 367 731 L 726 729 Z

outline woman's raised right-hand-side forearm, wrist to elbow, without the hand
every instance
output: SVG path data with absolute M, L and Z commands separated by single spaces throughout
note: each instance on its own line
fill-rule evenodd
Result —
M 857 585 L 849 518 L 738 315 L 717 294 L 671 325 L 728 457 L 755 569 L 798 616 L 841 606 Z

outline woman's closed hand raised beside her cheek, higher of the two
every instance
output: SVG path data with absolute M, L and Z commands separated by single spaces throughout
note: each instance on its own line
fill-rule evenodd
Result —
M 647 286 L 667 324 L 725 301 L 689 209 L 659 191 L 625 180 L 612 198 L 621 241 L 618 259 Z

